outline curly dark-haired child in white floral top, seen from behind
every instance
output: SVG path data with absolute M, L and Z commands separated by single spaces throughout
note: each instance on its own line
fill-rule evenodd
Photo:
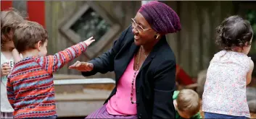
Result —
M 225 19 L 218 27 L 216 43 L 223 50 L 210 61 L 202 96 L 205 118 L 250 118 L 246 86 L 254 63 L 247 56 L 252 27 L 239 16 Z

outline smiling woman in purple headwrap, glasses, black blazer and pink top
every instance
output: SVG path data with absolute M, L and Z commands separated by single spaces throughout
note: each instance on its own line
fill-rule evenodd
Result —
M 112 49 L 70 66 L 83 76 L 115 71 L 115 89 L 87 118 L 175 118 L 176 59 L 165 35 L 181 30 L 178 15 L 166 4 L 151 1 L 131 22 Z

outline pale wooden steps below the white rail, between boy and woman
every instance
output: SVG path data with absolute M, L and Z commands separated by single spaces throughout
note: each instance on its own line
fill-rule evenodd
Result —
M 102 107 L 110 93 L 102 89 L 85 89 L 84 93 L 55 94 L 57 115 L 59 118 L 86 117 Z

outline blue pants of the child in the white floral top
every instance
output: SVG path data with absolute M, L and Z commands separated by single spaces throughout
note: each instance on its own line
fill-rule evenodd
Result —
M 237 118 L 237 119 L 247 119 L 247 117 L 240 117 L 234 115 L 222 115 L 216 113 L 207 113 L 205 112 L 205 118 Z

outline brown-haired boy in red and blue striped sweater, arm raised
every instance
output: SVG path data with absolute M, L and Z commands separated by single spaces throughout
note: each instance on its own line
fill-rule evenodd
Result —
M 94 40 L 46 56 L 48 34 L 37 22 L 24 21 L 14 32 L 15 48 L 22 53 L 8 76 L 7 96 L 14 118 L 57 118 L 53 73 L 86 51 Z

